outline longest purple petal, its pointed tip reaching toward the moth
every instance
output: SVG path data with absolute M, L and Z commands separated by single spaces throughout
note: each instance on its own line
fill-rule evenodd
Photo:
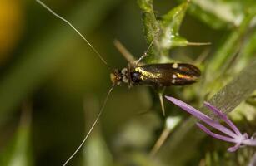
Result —
M 223 125 L 220 125 L 218 122 L 214 121 L 208 115 L 203 114 L 201 111 L 196 110 L 192 106 L 184 103 L 181 100 L 175 99 L 173 97 L 165 96 L 166 99 L 170 100 L 173 102 L 173 104 L 178 105 L 180 108 L 183 110 L 187 111 L 189 114 L 195 116 L 198 118 L 198 120 L 202 120 L 204 123 L 207 125 L 212 126 L 214 129 L 218 129 L 219 131 L 223 132 L 224 134 L 228 134 L 230 137 L 237 138 L 238 136 L 233 133 L 230 129 L 226 128 Z

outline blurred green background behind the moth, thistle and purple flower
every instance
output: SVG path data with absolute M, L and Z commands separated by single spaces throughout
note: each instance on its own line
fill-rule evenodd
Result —
M 43 2 L 72 22 L 111 66 L 128 64 L 113 46 L 115 39 L 137 58 L 148 48 L 142 11 L 134 0 Z M 154 1 L 153 9 L 161 18 L 181 2 Z M 175 47 L 168 57 L 199 66 L 203 78 L 195 85 L 170 87 L 165 94 L 202 105 L 254 61 L 255 5 L 253 0 L 193 0 L 179 34 L 212 45 Z M 67 24 L 33 0 L 0 1 L 0 43 L 0 165 L 62 165 L 81 143 L 111 86 L 108 68 Z M 251 133 L 253 96 L 238 108 L 246 113 L 234 114 Z M 188 117 L 165 105 L 168 117 Z M 180 149 L 185 158 L 149 158 L 165 121 L 153 89 L 115 87 L 100 122 L 70 165 L 246 165 L 253 154 L 253 149 L 226 154 L 228 144 L 204 138 L 190 151 Z

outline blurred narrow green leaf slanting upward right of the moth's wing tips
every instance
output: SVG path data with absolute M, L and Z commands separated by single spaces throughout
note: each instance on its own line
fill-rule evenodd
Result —
M 240 27 L 235 28 L 233 32 L 228 35 L 227 39 L 223 41 L 223 44 L 218 48 L 215 54 L 213 54 L 207 66 L 207 70 L 205 71 L 205 82 L 202 90 L 203 97 L 205 94 L 211 97 L 228 81 L 228 77 L 237 73 L 234 70 L 228 73 L 227 69 L 229 66 L 233 65 L 234 57 L 236 57 L 241 50 L 242 39 L 246 32 L 248 32 L 253 17 L 254 14 L 250 13 L 244 17 Z M 239 61 L 237 65 L 239 66 Z M 222 79 L 223 76 L 225 76 L 226 79 Z

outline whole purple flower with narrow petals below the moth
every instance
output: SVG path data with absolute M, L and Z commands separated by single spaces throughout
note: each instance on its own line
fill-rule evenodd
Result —
M 222 134 L 213 133 L 210 129 L 206 128 L 204 125 L 197 122 L 198 127 L 202 129 L 205 133 L 209 134 L 215 139 L 221 139 L 226 142 L 234 143 L 235 145 L 233 147 L 228 148 L 229 152 L 236 151 L 241 145 L 256 146 L 256 139 L 253 139 L 253 137 L 248 138 L 247 133 L 241 134 L 241 132 L 233 124 L 233 122 L 228 119 L 227 115 L 225 115 L 221 110 L 218 110 L 216 107 L 209 104 L 208 102 L 204 102 L 204 105 L 208 107 L 209 110 L 212 110 L 213 113 L 217 115 L 219 119 L 223 120 L 228 125 L 228 127 L 221 125 L 217 120 L 213 120 L 208 115 L 203 114 L 201 111 L 196 110 L 191 105 L 188 105 L 181 100 L 169 96 L 165 97 L 166 99 L 173 102 L 174 105 L 178 105 L 180 108 L 187 111 L 189 114 L 193 115 L 198 120 L 201 120 L 205 124 L 212 126 L 214 129 L 217 129 Z

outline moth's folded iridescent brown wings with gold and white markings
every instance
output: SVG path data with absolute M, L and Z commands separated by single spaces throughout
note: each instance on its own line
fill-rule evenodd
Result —
M 165 63 L 134 67 L 131 79 L 139 85 L 189 85 L 197 81 L 200 75 L 198 67 L 191 64 Z

